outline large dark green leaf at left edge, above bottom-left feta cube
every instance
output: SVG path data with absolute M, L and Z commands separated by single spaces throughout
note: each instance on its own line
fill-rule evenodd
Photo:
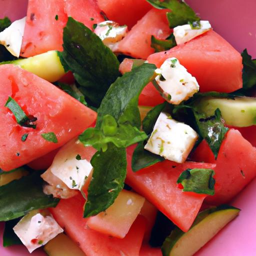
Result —
M 36 171 L 0 186 L 0 221 L 18 218 L 30 210 L 57 205 L 59 199 L 43 193 L 40 174 Z

